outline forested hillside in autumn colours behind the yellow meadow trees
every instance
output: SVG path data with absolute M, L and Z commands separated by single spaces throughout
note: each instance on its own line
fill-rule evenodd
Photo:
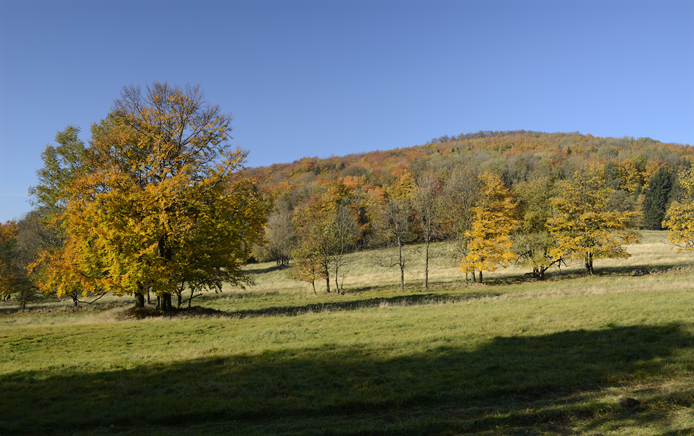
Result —
M 507 131 L 443 136 L 387 151 L 303 158 L 245 169 L 241 175 L 255 179 L 269 200 L 264 246 L 253 249 L 258 260 L 328 259 L 334 254 L 335 238 L 323 241 L 322 254 L 319 240 L 326 232 L 335 236 L 345 231 L 335 230 L 345 219 L 350 234 L 345 234 L 348 243 L 341 245 L 340 253 L 345 247 L 446 239 L 466 247 L 475 210 L 482 210 L 486 196 L 494 195 L 489 191 L 492 185 L 498 194 L 509 192 L 502 215 L 520 223 L 512 226 L 518 251 L 513 257 L 522 258 L 553 249 L 556 237 L 547 235 L 557 229 L 550 225 L 550 203 L 565 201 L 566 190 L 574 188 L 590 191 L 591 196 L 571 201 L 591 204 L 590 208 L 600 203 L 604 217 L 620 221 L 618 228 L 663 228 L 666 210 L 679 195 L 678 174 L 693 164 L 693 147 L 650 138 Z M 579 187 L 583 185 L 590 187 Z M 534 248 L 518 246 L 523 241 Z M 606 246 L 601 250 L 604 253 L 596 255 L 622 253 Z M 328 269 L 328 260 L 324 263 L 321 271 Z M 313 264 L 307 265 L 313 271 Z

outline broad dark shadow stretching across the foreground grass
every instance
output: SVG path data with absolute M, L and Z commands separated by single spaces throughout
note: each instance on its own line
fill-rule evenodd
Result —
M 324 344 L 92 374 L 17 371 L 0 376 L 0 434 L 541 434 L 515 432 L 576 420 L 590 428 L 612 407 L 586 400 L 591 392 L 661 375 L 693 339 L 670 324 L 496 337 L 472 350 Z M 691 407 L 693 394 L 668 395 Z

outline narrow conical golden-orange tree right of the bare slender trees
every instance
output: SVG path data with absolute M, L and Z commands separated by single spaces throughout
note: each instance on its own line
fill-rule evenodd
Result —
M 480 201 L 473 208 L 471 230 L 466 232 L 470 239 L 468 253 L 458 266 L 462 272 L 480 271 L 482 282 L 482 271 L 507 267 L 516 258 L 511 250 L 511 235 L 519 221 L 516 203 L 499 176 L 485 172 L 480 174 L 480 181 Z

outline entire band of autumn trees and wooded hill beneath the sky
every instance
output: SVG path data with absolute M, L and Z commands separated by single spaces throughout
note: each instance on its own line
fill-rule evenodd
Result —
M 75 305 L 106 292 L 190 305 L 251 285 L 248 260 L 344 292 L 349 253 L 455 242 L 466 280 L 511 264 L 542 278 L 573 260 L 624 258 L 640 228 L 694 249 L 691 147 L 650 138 L 527 131 L 444 135 L 404 149 L 244 168 L 230 115 L 199 87 L 124 87 L 90 140 L 77 126 L 46 146 L 34 210 L 0 224 L 0 296 Z M 172 299 L 176 298 L 176 302 Z

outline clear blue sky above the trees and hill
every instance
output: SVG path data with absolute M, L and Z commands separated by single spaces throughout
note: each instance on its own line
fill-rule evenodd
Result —
M 0 221 L 123 85 L 200 83 L 248 165 L 480 130 L 694 144 L 694 1 L 0 0 Z

